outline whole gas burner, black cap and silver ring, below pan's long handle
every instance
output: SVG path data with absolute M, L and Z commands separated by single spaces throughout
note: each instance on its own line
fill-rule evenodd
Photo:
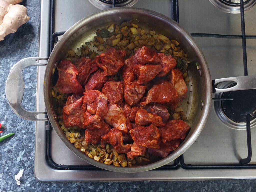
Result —
M 220 88 L 233 87 L 234 84 L 223 83 Z M 215 101 L 214 108 L 219 119 L 228 127 L 246 130 L 246 115 L 250 114 L 251 127 L 256 124 L 256 90 L 239 90 L 217 93 L 216 98 L 232 98 L 232 101 Z

